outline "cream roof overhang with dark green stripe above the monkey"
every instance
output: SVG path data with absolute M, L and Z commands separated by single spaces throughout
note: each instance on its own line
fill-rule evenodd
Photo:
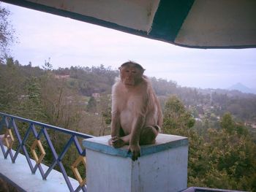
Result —
M 2 1 L 184 47 L 256 47 L 255 0 Z

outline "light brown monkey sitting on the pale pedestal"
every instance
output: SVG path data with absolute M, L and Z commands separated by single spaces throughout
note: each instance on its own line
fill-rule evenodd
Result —
M 132 161 L 140 157 L 140 145 L 156 142 L 162 126 L 162 110 L 151 82 L 140 64 L 127 61 L 112 87 L 111 138 L 113 147 L 128 146 Z

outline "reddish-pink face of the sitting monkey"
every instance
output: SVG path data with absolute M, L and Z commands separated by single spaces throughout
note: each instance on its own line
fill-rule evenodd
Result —
M 144 72 L 132 64 L 121 66 L 119 69 L 121 81 L 127 87 L 135 86 L 138 82 L 140 82 Z

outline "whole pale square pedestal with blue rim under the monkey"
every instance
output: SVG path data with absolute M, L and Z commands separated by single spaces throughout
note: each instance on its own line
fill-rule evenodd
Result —
M 138 161 L 127 147 L 108 145 L 110 136 L 86 139 L 86 178 L 89 192 L 182 191 L 187 188 L 188 140 L 159 134 L 154 145 L 141 146 Z

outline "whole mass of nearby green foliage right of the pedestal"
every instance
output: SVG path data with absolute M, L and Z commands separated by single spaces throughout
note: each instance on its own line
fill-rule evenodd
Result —
M 189 123 L 192 116 L 176 97 L 165 104 L 163 131 L 189 139 L 188 185 L 208 188 L 256 191 L 256 145 L 246 128 L 230 113 L 220 129 L 208 128 L 200 137 Z

